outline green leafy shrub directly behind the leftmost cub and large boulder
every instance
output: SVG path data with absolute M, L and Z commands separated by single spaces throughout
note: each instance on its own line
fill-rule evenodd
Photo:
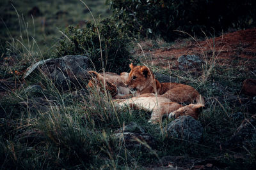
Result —
M 131 54 L 127 50 L 129 39 L 118 31 L 113 20 L 102 20 L 97 26 L 102 49 L 97 27 L 88 22 L 83 29 L 67 27 L 57 47 L 57 57 L 81 54 L 90 57 L 97 71 L 102 69 L 102 61 L 106 71 L 127 71 L 131 62 Z

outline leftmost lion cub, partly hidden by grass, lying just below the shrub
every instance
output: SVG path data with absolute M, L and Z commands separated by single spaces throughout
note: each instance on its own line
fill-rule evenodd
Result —
M 88 71 L 91 78 L 88 83 L 89 87 L 94 87 L 95 85 L 101 91 L 104 91 L 104 83 L 106 90 L 111 94 L 113 99 L 132 97 L 129 88 L 124 82 L 127 81 L 129 73 L 123 72 L 120 75 L 116 73 L 97 73 L 95 71 Z

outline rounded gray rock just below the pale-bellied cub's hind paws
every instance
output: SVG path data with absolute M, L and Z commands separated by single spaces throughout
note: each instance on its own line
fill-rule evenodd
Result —
M 190 116 L 181 116 L 167 125 L 168 136 L 198 143 L 202 137 L 203 127 Z

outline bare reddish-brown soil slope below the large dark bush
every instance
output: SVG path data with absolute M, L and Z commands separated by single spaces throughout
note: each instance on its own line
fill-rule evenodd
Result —
M 223 34 L 204 41 L 176 41 L 167 48 L 146 51 L 152 64 L 159 67 L 177 69 L 177 59 L 181 55 L 195 54 L 202 59 L 216 59 L 219 64 L 244 64 L 249 70 L 256 69 L 256 28 Z M 141 55 L 141 53 L 140 53 Z M 236 60 L 236 62 L 234 62 Z M 168 63 L 169 62 L 169 63 Z

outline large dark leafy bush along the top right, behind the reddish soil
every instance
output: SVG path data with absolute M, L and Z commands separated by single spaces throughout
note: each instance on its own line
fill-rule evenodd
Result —
M 230 27 L 255 25 L 256 1 L 252 0 L 109 0 L 113 17 L 123 31 L 142 36 L 175 39 L 177 32 L 202 34 Z

